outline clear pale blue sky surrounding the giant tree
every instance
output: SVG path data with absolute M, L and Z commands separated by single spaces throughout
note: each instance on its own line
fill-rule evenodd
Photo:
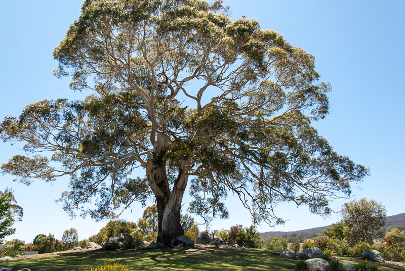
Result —
M 82 7 L 81 0 L 5 1 L 0 11 L 0 117 L 19 115 L 25 105 L 56 98 L 78 99 L 69 79 L 53 77 L 57 62 L 54 48 Z M 405 212 L 403 167 L 405 148 L 405 1 L 224 1 L 232 17 L 256 18 L 262 28 L 280 32 L 294 46 L 315 56 L 321 80 L 330 82 L 331 113 L 314 123 L 334 149 L 371 169 L 371 176 L 353 188 L 353 197 L 381 201 L 388 215 Z M 0 163 L 18 153 L 17 146 L 0 143 Z M 90 218 L 70 220 L 56 204 L 67 187 L 67 178 L 53 184 L 37 180 L 25 187 L 10 175 L 0 176 L 0 190 L 15 191 L 24 209 L 23 221 L 16 222 L 18 238 L 32 242 L 37 234 L 52 233 L 61 238 L 71 227 L 79 238 L 96 234 L 104 222 Z M 189 198 L 186 197 L 186 203 Z M 332 203 L 337 211 L 344 200 Z M 249 213 L 231 195 L 227 200 L 230 217 L 216 219 L 211 229 L 251 224 Z M 132 213 L 121 218 L 136 221 L 143 212 L 134 204 Z M 305 207 L 280 205 L 277 214 L 290 219 L 283 226 L 259 227 L 265 231 L 295 231 L 338 221 L 310 214 Z

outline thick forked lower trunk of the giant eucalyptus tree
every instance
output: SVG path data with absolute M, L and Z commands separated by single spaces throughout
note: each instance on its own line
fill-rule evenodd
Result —
M 174 238 L 184 235 L 180 222 L 180 208 L 188 175 L 184 166 L 179 165 L 179 175 L 170 191 L 165 165 L 152 168 L 150 173 L 149 185 L 156 198 L 158 213 L 157 242 L 169 246 Z

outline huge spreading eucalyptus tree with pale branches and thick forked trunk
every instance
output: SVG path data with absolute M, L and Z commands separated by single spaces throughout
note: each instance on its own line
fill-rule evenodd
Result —
M 232 192 L 254 222 L 282 223 L 277 203 L 327 214 L 368 174 L 310 125 L 328 113 L 331 89 L 314 57 L 253 19 L 231 20 L 222 1 L 86 0 L 54 58 L 57 77 L 91 94 L 6 117 L 2 139 L 28 154 L 2 169 L 25 184 L 70 175 L 61 201 L 72 215 L 114 217 L 152 196 L 168 244 L 183 233 L 187 187 L 189 211 L 207 221 L 228 217 Z

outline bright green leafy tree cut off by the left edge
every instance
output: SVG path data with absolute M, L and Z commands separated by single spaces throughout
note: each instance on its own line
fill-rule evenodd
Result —
M 22 208 L 13 203 L 17 202 L 12 190 L 0 191 L 0 245 L 3 244 L 6 236 L 15 233 L 16 229 L 12 228 L 15 217 L 21 221 L 23 215 Z

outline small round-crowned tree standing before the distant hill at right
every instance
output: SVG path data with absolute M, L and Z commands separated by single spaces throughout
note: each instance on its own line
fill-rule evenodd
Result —
M 344 235 L 350 245 L 358 242 L 373 244 L 372 237 L 382 237 L 381 227 L 386 220 L 386 210 L 375 200 L 362 198 L 345 203 L 342 208 Z

